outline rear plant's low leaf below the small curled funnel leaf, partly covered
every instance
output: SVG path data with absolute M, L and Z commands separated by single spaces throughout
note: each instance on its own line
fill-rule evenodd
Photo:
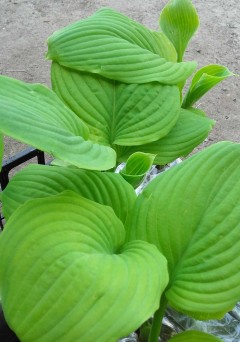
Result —
M 178 157 L 188 155 L 208 136 L 214 121 L 195 114 L 194 110 L 181 109 L 179 119 L 173 129 L 162 139 L 136 148 L 118 151 L 119 160 L 126 158 L 136 150 L 156 154 L 154 163 L 165 165 Z

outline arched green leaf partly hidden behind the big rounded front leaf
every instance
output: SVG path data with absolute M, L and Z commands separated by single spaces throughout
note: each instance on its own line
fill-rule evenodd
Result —
M 123 223 L 136 199 L 133 188 L 118 174 L 31 164 L 12 177 L 2 192 L 4 217 L 8 219 L 30 199 L 57 195 L 64 190 L 112 207 Z

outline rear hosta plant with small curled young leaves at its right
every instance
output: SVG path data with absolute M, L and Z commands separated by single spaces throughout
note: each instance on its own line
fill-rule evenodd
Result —
M 196 101 L 232 75 L 183 61 L 198 25 L 190 0 L 170 0 L 158 31 L 103 8 L 55 32 L 46 55 L 54 92 L 0 77 L 1 134 L 92 170 L 135 152 L 159 165 L 187 155 L 214 125 Z

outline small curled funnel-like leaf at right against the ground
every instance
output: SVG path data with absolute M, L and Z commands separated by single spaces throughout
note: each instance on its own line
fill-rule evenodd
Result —
M 211 88 L 234 74 L 228 68 L 212 64 L 207 65 L 196 72 L 194 75 L 189 90 L 184 98 L 183 107 L 191 107 Z

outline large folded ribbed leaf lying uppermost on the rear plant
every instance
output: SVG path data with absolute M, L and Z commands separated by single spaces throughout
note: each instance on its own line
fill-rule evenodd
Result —
M 178 84 L 196 68 L 163 55 L 163 36 L 108 8 L 48 39 L 47 59 L 125 83 Z M 164 40 L 166 40 L 164 38 Z M 172 53 L 170 56 L 172 60 Z

